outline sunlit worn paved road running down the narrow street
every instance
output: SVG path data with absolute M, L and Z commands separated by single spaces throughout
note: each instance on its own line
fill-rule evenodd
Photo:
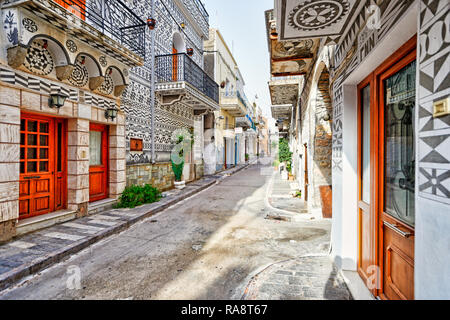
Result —
M 330 221 L 265 219 L 271 177 L 261 169 L 251 166 L 0 299 L 240 299 L 252 275 L 280 261 L 326 253 L 329 243 Z

